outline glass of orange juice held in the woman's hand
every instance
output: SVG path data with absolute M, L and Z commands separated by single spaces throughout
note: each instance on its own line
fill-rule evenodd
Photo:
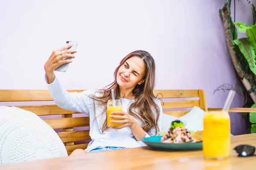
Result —
M 107 122 L 108 122 L 108 127 L 119 127 L 122 125 L 122 123 L 112 123 L 110 122 L 111 120 L 122 120 L 122 119 L 113 119 L 111 117 L 109 117 L 111 114 L 111 112 L 114 112 L 114 111 L 122 111 L 122 102 L 121 100 L 108 100 L 108 103 L 107 103 Z M 122 116 L 121 114 L 115 114 L 115 115 L 118 115 L 118 116 Z

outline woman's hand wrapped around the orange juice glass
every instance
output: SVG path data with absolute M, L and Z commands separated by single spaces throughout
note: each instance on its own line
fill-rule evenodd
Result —
M 126 112 L 123 111 L 116 111 L 116 112 L 112 112 L 112 115 L 110 115 L 111 118 L 114 119 L 121 119 L 121 120 L 111 120 L 110 122 L 112 123 L 122 123 L 121 126 L 119 127 L 112 127 L 113 129 L 122 129 L 124 127 L 133 127 L 135 123 L 137 123 L 134 119 L 133 116 L 129 115 Z M 118 116 L 117 114 L 121 114 L 122 116 Z

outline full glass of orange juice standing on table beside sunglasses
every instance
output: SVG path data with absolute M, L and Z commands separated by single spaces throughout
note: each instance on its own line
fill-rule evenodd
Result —
M 208 112 L 204 115 L 203 153 L 205 159 L 230 157 L 230 116 L 228 112 Z

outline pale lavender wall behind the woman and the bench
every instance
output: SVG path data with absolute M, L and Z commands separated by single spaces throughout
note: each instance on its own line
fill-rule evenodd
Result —
M 76 40 L 76 59 L 66 73 L 56 73 L 66 89 L 104 87 L 122 57 L 143 49 L 157 63 L 156 89 L 204 89 L 208 107 L 222 107 L 227 93 L 213 91 L 240 84 L 218 14 L 223 6 L 224 0 L 4 0 L 0 89 L 46 89 L 44 62 Z M 236 21 L 253 23 L 245 0 L 236 0 Z M 232 107 L 242 105 L 236 95 Z M 241 114 L 230 115 L 232 133 L 245 133 Z

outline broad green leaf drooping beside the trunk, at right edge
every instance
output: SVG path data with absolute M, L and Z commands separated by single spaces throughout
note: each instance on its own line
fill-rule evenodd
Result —
M 255 60 L 256 56 L 253 50 L 253 46 L 250 44 L 249 40 L 247 38 L 240 38 L 240 39 L 234 40 L 234 43 L 238 45 L 241 53 L 246 58 L 250 66 L 250 70 L 254 74 L 256 74 L 256 60 Z

